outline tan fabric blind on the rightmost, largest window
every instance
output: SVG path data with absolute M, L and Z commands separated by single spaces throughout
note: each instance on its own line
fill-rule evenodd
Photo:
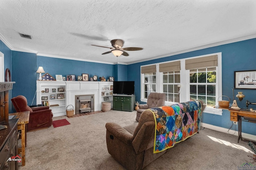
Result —
M 198 69 L 218 66 L 218 55 L 186 59 L 185 69 Z

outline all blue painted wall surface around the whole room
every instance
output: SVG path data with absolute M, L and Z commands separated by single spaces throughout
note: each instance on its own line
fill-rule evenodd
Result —
M 93 63 L 86 61 L 76 61 L 68 59 L 59 59 L 52 57 L 36 56 L 34 53 L 24 53 L 11 51 L 4 43 L 0 41 L 0 51 L 4 53 L 4 67 L 9 68 L 12 74 L 12 81 L 16 81 L 12 96 L 24 95 L 28 99 L 28 104 L 32 103 L 36 92 L 36 80 L 39 74 L 36 73 L 38 66 L 42 66 L 44 71 L 55 77 L 56 74 L 81 75 L 88 73 L 89 77 L 97 75 L 114 77 L 118 81 L 135 81 L 136 101 L 140 101 L 140 66 L 164 61 L 171 61 L 198 55 L 206 55 L 210 53 L 222 52 L 222 95 L 230 97 L 230 105 L 232 104 L 232 87 L 234 87 L 234 71 L 256 70 L 256 39 L 245 40 L 236 43 L 229 43 L 210 47 L 206 49 L 191 51 L 160 59 L 130 64 L 130 65 L 111 65 L 102 63 Z M 246 100 L 256 102 L 256 90 L 238 90 L 243 91 L 246 96 L 242 102 L 238 101 L 239 107 L 246 107 Z M 10 97 L 11 98 L 11 97 Z M 36 104 L 34 101 L 33 105 Z M 252 107 L 250 105 L 250 107 Z M 254 108 L 255 109 L 255 108 Z M 15 110 L 13 110 L 15 111 Z M 230 113 L 223 111 L 222 116 L 204 113 L 202 122 L 210 125 L 230 128 Z M 238 127 L 236 126 L 236 131 Z M 234 130 L 234 126 L 231 128 Z M 256 135 L 254 123 L 243 123 L 242 131 L 248 134 Z

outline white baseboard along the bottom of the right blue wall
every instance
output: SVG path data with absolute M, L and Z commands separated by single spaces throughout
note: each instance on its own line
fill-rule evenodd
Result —
M 238 136 L 238 131 L 231 130 L 231 129 L 228 130 L 227 128 L 217 127 L 217 126 L 210 125 L 210 124 L 207 124 L 207 123 L 201 123 L 201 127 L 209 128 L 209 129 L 216 130 L 216 131 L 219 131 L 219 132 L 224 132 L 224 133 L 233 134 L 233 135 Z M 237 125 L 237 129 L 238 129 L 238 125 Z M 254 140 L 254 141 L 256 140 L 255 135 L 248 134 L 248 133 L 243 133 L 242 132 L 242 137 L 246 138 L 246 139 Z

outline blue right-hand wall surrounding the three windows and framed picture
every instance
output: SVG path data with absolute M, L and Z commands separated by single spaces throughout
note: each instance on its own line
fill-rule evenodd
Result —
M 135 81 L 136 101 L 140 101 L 141 65 L 218 52 L 222 52 L 222 95 L 230 97 L 231 106 L 233 102 L 232 87 L 234 87 L 234 71 L 256 70 L 256 38 L 128 65 L 128 81 Z M 242 91 L 245 95 L 245 98 L 241 102 L 236 99 L 239 107 L 246 108 L 246 100 L 256 102 L 255 89 L 234 89 L 235 95 L 238 91 Z M 256 106 L 250 105 L 250 107 L 255 109 Z M 202 122 L 223 128 L 230 128 L 232 126 L 232 121 L 230 121 L 230 112 L 227 110 L 223 110 L 222 116 L 204 113 L 202 116 Z M 254 123 L 243 122 L 242 132 L 256 135 L 255 125 L 256 124 Z M 235 126 L 233 125 L 231 129 L 234 130 Z M 236 131 L 238 131 L 237 126 Z

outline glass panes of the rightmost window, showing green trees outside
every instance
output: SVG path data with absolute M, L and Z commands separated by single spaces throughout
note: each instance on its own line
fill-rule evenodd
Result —
M 216 105 L 216 67 L 190 70 L 190 100 L 202 100 L 207 107 Z

